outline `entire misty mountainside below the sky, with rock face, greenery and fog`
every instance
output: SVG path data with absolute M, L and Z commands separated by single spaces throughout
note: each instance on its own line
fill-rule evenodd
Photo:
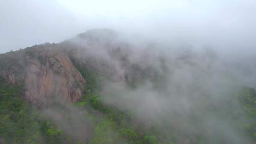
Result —
M 0 144 L 256 144 L 255 58 L 91 29 L 0 54 Z

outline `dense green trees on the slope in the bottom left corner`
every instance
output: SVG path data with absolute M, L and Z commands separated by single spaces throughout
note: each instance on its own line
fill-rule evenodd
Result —
M 59 144 L 64 134 L 37 109 L 22 99 L 22 86 L 6 84 L 0 78 L 0 142 L 4 144 Z

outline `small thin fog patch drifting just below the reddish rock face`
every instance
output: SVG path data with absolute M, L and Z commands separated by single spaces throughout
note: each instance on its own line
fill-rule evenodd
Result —
M 63 101 L 55 102 L 55 105 L 58 106 L 49 106 L 39 111 L 40 118 L 50 119 L 65 134 L 87 143 L 94 127 L 94 124 L 85 117 L 87 111 Z

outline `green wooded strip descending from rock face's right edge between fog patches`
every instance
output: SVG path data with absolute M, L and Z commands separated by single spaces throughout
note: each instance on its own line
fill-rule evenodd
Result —
M 90 111 L 97 124 L 89 144 L 160 144 L 154 135 L 155 131 L 131 123 L 133 117 L 131 113 L 118 111 L 115 107 L 105 106 L 101 102 L 101 96 L 98 94 L 101 76 L 87 69 L 79 70 L 87 80 L 86 87 L 89 91 L 85 91 L 77 105 Z M 102 114 L 101 117 L 97 117 L 98 119 L 95 118 L 97 112 Z

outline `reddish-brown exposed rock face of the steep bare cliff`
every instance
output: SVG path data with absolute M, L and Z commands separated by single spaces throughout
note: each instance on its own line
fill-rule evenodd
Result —
M 39 103 L 44 103 L 51 96 L 68 101 L 81 98 L 85 80 L 66 54 L 46 49 L 38 51 L 36 56 L 41 57 L 41 62 L 28 57 L 25 77 L 27 98 Z

